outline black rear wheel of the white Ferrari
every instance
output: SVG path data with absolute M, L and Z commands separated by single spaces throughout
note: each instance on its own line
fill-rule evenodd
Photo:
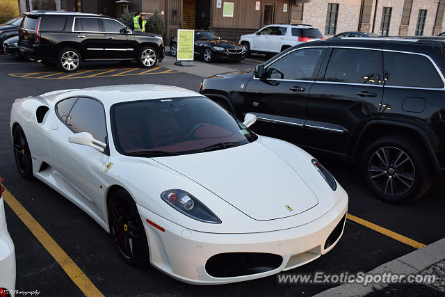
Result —
M 13 134 L 14 159 L 17 170 L 24 179 L 33 178 L 33 160 L 28 141 L 22 127 L 16 127 Z

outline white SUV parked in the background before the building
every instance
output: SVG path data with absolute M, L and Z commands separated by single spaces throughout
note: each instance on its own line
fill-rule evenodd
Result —
M 241 35 L 239 40 L 246 54 L 277 54 L 301 42 L 324 39 L 323 34 L 310 25 L 268 25 L 253 34 Z

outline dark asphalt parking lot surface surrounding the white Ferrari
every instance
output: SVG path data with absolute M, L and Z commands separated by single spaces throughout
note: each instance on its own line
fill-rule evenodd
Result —
M 240 64 L 218 65 L 242 70 L 261 61 L 264 58 L 255 56 Z M 201 62 L 197 62 L 195 67 L 200 65 Z M 64 271 L 62 267 L 66 268 L 67 263 L 56 261 L 57 257 L 42 246 L 7 200 L 6 220 L 17 257 L 17 289 L 37 290 L 41 296 L 83 296 L 94 292 L 105 296 L 312 296 L 333 287 L 334 284 L 283 285 L 277 283 L 276 276 L 198 287 L 178 282 L 151 266 L 128 266 L 115 252 L 111 236 L 92 218 L 49 186 L 36 179 L 24 181 L 19 176 L 9 128 L 10 106 L 15 98 L 51 90 L 130 83 L 161 83 L 199 89 L 202 77 L 169 67 L 168 61 L 149 70 L 140 69 L 133 63 L 97 63 L 83 65 L 79 72 L 65 74 L 55 67 L 0 56 L 0 175 L 5 179 L 8 191 L 81 271 L 77 275 L 65 273 L 66 269 Z M 342 239 L 331 252 L 287 272 L 366 272 L 445 237 L 444 187 L 439 182 L 421 200 L 391 205 L 373 198 L 355 166 L 332 157 L 316 157 L 348 191 L 350 216 Z M 54 243 L 51 245 L 54 247 Z M 92 283 L 97 291 L 94 288 L 90 291 L 79 289 L 82 282 Z

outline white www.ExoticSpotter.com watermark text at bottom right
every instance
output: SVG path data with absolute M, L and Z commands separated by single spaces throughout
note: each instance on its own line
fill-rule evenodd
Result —
M 390 284 L 390 283 L 423 283 L 435 282 L 435 275 L 406 275 L 396 273 L 280 273 L 277 274 L 279 284 Z

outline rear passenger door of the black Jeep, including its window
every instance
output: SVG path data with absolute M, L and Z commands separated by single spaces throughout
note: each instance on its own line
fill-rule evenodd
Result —
M 370 120 L 378 120 L 383 86 L 382 50 L 330 49 L 307 104 L 307 137 L 311 147 L 348 154 Z M 323 77 L 324 74 L 324 77 Z

